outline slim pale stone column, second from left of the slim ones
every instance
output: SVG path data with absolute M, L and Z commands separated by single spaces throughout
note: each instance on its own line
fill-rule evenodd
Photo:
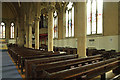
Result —
M 35 49 L 39 49 L 39 17 L 35 19 Z

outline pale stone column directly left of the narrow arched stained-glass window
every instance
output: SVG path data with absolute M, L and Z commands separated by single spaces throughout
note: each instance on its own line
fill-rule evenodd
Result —
M 53 11 L 48 11 L 48 51 L 53 51 Z

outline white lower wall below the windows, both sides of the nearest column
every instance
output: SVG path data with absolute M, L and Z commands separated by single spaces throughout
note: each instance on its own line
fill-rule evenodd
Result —
M 96 49 L 105 49 L 111 50 L 114 49 L 116 51 L 120 51 L 118 41 L 120 35 L 114 36 L 87 36 L 86 39 L 86 48 L 96 48 Z M 94 39 L 94 41 L 89 41 L 90 39 Z M 77 38 L 65 38 L 61 40 L 54 40 L 53 45 L 56 47 L 73 47 L 77 48 Z

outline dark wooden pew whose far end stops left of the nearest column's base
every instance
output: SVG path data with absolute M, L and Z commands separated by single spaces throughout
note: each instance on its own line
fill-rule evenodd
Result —
M 74 58 L 78 58 L 78 55 L 77 54 L 71 54 L 71 55 L 64 55 L 64 56 L 57 56 L 57 57 L 32 59 L 32 60 L 26 59 L 25 60 L 25 64 L 26 64 L 26 66 L 25 66 L 25 76 L 26 76 L 26 78 L 30 78 L 33 64 L 50 63 L 50 62 L 56 62 L 56 61 L 74 59 Z

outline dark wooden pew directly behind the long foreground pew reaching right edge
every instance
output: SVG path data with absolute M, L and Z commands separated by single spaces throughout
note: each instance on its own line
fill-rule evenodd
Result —
M 78 65 L 78 64 L 82 64 L 82 63 L 87 63 L 90 61 L 95 61 L 95 60 L 100 60 L 101 56 L 97 55 L 97 56 L 92 56 L 92 57 L 88 57 L 88 58 L 78 58 L 78 59 L 70 59 L 70 60 L 64 60 L 64 61 L 57 61 L 57 62 L 51 62 L 51 63 L 44 63 L 44 64 L 32 64 L 32 74 L 30 76 L 30 78 L 34 78 L 34 74 L 37 74 L 37 72 L 41 72 L 43 69 L 50 69 L 50 68 L 56 68 L 56 67 L 63 67 L 66 68 L 69 65 Z M 63 69 L 62 68 L 62 69 Z M 27 69 L 27 67 L 26 67 Z M 59 68 L 60 69 L 60 68 Z

